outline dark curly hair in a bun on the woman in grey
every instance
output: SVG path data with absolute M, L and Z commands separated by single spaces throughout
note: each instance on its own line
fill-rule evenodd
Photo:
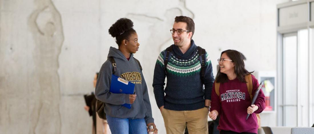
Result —
M 118 19 L 116 23 L 112 24 L 108 31 L 113 38 L 116 38 L 118 46 L 121 45 L 123 39 L 128 40 L 131 34 L 136 33 L 133 29 L 132 20 L 128 18 Z

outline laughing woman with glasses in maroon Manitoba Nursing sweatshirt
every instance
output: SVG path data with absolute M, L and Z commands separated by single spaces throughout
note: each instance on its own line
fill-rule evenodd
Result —
M 241 53 L 236 50 L 221 52 L 218 63 L 220 68 L 214 82 L 208 116 L 216 120 L 220 115 L 217 127 L 220 134 L 257 134 L 259 126 L 256 114 L 265 109 L 265 96 L 260 90 L 254 105 L 251 105 L 250 94 L 254 96 L 259 86 L 258 80 L 245 69 Z M 247 85 L 250 80 L 251 93 Z M 252 115 L 246 120 L 247 114 Z

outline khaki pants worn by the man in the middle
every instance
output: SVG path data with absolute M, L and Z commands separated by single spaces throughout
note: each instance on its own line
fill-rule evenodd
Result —
M 163 109 L 161 115 L 167 134 L 183 134 L 186 126 L 189 134 L 208 134 L 208 113 L 208 109 L 204 107 L 192 111 Z

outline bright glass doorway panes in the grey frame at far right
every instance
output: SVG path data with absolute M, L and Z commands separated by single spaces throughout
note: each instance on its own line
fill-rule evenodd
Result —
M 283 126 L 309 125 L 308 41 L 307 29 L 283 35 Z

